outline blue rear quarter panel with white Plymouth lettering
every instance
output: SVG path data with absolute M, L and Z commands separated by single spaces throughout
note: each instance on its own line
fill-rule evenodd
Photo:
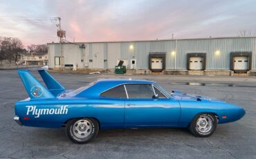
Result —
M 31 106 L 37 110 L 32 110 Z M 105 128 L 124 127 L 124 108 L 125 104 L 120 100 L 39 100 L 17 102 L 15 113 L 29 127 L 57 128 L 72 118 L 91 117 Z M 39 109 L 50 111 L 40 111 L 42 113 L 38 115 Z

